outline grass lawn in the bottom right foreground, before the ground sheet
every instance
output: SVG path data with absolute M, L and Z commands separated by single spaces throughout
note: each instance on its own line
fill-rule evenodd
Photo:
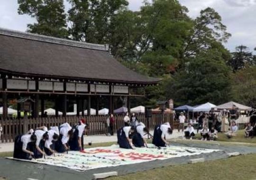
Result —
M 106 180 L 254 180 L 256 154 L 206 163 L 183 164 L 137 172 Z

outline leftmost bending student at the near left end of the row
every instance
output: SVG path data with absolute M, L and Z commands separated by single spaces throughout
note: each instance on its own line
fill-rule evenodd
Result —
M 15 137 L 13 157 L 31 160 L 34 156 L 36 142 L 35 132 Z

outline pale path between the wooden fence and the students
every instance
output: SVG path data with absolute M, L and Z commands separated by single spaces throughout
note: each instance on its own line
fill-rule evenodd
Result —
M 150 131 L 150 134 L 154 134 L 153 131 Z M 172 135 L 167 136 L 167 139 L 177 138 L 183 136 L 183 133 L 178 133 L 175 129 Z M 92 135 L 92 136 L 84 136 L 85 145 L 88 144 L 89 141 L 91 143 L 106 143 L 106 142 L 117 142 L 117 135 L 114 136 L 106 136 L 106 135 Z M 1 143 L 0 144 L 0 153 L 3 152 L 11 152 L 13 151 L 14 143 Z

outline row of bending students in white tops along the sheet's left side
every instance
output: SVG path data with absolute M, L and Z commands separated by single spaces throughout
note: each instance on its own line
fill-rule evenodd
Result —
M 67 122 L 59 127 L 45 126 L 30 129 L 27 134 L 15 137 L 13 157 L 18 159 L 42 158 L 55 152 L 83 150 L 83 134 L 88 129 L 85 120 L 71 127 Z

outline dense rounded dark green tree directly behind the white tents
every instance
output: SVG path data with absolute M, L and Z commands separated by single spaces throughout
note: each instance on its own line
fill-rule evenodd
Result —
M 230 87 L 230 69 L 222 54 L 211 49 L 198 54 L 173 76 L 166 86 L 166 95 L 176 105 L 220 104 L 229 100 Z

